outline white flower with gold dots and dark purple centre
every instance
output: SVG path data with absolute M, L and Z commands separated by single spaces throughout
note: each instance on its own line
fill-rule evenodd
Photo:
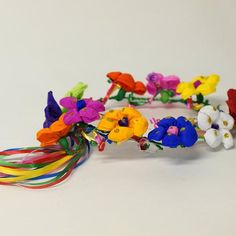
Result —
M 213 106 L 205 106 L 198 113 L 198 127 L 206 131 L 204 138 L 206 143 L 216 148 L 223 143 L 226 149 L 234 146 L 230 130 L 234 127 L 234 119 L 231 115 L 219 111 Z

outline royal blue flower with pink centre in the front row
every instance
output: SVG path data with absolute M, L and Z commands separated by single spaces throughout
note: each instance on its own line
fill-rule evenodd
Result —
M 157 128 L 148 134 L 150 141 L 161 141 L 163 146 L 176 148 L 193 146 L 198 140 L 198 134 L 192 123 L 180 116 L 163 118 L 157 123 Z

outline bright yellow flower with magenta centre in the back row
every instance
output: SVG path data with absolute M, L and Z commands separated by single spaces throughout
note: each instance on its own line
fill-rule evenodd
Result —
M 197 76 L 190 82 L 181 82 L 177 86 L 176 92 L 181 94 L 183 99 L 193 95 L 202 94 L 206 96 L 216 91 L 216 86 L 220 80 L 218 75 Z

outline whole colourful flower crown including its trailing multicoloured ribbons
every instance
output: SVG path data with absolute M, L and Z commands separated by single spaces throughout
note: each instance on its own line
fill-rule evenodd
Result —
M 65 180 L 89 157 L 91 147 L 103 151 L 106 144 L 128 140 L 141 150 L 155 147 L 189 148 L 206 142 L 211 148 L 234 145 L 231 130 L 236 123 L 236 90 L 228 91 L 229 114 L 212 106 L 206 95 L 214 93 L 218 75 L 197 76 L 182 82 L 178 76 L 148 74 L 146 85 L 128 73 L 107 74 L 110 87 L 103 98 L 83 98 L 87 85 L 78 83 L 59 104 L 48 93 L 43 129 L 37 133 L 40 147 L 15 148 L 0 152 L 0 184 L 40 189 Z M 149 96 L 143 96 L 145 93 Z M 121 109 L 105 111 L 108 100 L 126 100 Z M 159 101 L 181 103 L 196 111 L 196 117 L 165 117 L 148 120 L 137 106 Z M 95 125 L 94 122 L 98 121 Z M 20 158 L 19 158 L 20 155 Z

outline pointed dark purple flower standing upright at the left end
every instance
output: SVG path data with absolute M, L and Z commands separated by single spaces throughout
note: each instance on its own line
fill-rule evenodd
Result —
M 53 92 L 48 92 L 48 101 L 47 106 L 44 109 L 46 120 L 44 121 L 43 127 L 48 128 L 52 123 L 57 121 L 62 115 L 60 106 L 57 104 L 56 100 L 53 97 Z

